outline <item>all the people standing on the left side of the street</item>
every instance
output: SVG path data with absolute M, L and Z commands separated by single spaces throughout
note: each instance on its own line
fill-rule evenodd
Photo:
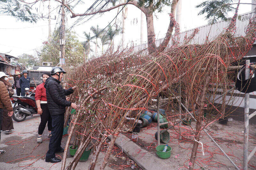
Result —
M 61 159 L 55 157 L 55 153 L 64 152 L 61 147 L 61 139 L 64 128 L 64 116 L 66 107 L 71 106 L 77 109 L 77 105 L 69 101 L 66 97 L 74 92 L 76 86 L 67 90 L 63 89 L 61 80 L 65 74 L 65 70 L 61 67 L 53 67 L 51 72 L 42 74 L 43 82 L 36 87 L 36 106 L 37 113 L 41 117 L 41 122 L 38 127 L 37 143 L 43 142 L 42 134 L 44 129 L 48 127 L 49 150 L 46 153 L 45 162 L 56 163 Z M 14 88 L 17 96 L 25 96 L 25 88 L 29 88 L 30 77 L 28 71 L 23 70 L 22 75 L 16 74 L 14 79 Z M 8 81 L 8 75 L 0 72 L 0 127 L 6 134 L 12 133 L 13 122 L 12 114 L 13 108 L 10 98 L 14 94 L 11 84 Z M 0 131 L 1 140 L 1 131 Z M 0 155 L 4 154 L 4 150 L 0 150 Z

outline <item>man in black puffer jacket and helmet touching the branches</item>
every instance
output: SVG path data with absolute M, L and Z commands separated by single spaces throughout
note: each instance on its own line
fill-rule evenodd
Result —
M 75 103 L 71 103 L 66 100 L 66 96 L 72 94 L 76 87 L 64 90 L 60 85 L 60 80 L 63 74 L 66 72 L 61 67 L 53 67 L 51 70 L 52 77 L 47 78 L 45 81 L 47 105 L 52 116 L 52 137 L 49 142 L 49 150 L 45 156 L 45 162 L 56 163 L 60 162 L 61 159 L 55 157 L 56 152 L 64 152 L 64 149 L 60 146 L 63 126 L 64 126 L 64 115 L 66 107 L 71 106 L 76 109 Z

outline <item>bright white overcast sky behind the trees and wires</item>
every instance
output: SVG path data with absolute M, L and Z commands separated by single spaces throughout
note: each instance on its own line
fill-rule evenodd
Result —
M 204 20 L 204 16 L 197 16 L 197 13 L 200 11 L 200 9 L 195 8 L 197 4 L 200 4 L 203 1 L 205 0 L 182 0 L 182 14 L 180 24 L 181 31 L 207 24 L 207 21 Z M 88 2 L 88 0 L 84 2 Z M 92 4 L 92 2 L 93 1 L 90 1 L 90 4 L 84 3 L 76 5 L 76 7 L 74 8 L 75 13 L 84 13 L 85 9 L 87 9 Z M 241 0 L 241 3 L 251 3 L 251 0 Z M 60 7 L 58 5 L 60 4 L 51 1 L 51 9 L 53 10 L 51 14 L 52 18 L 54 18 L 55 15 L 58 18 L 58 12 L 60 10 Z M 39 4 L 37 7 L 39 7 Z M 165 7 L 161 13 L 155 14 L 157 18 L 154 17 L 154 27 L 157 39 L 164 37 L 166 33 L 170 22 L 168 14 L 170 13 L 170 9 L 171 7 Z M 249 11 L 251 11 L 251 5 L 241 4 L 238 13 L 242 14 Z M 43 15 L 48 16 L 48 1 L 40 3 L 38 14 L 42 15 L 42 13 Z M 74 26 L 72 31 L 75 31 L 77 33 L 80 41 L 85 41 L 85 39 L 82 38 L 84 37 L 84 31 L 89 32 L 90 27 L 97 26 L 97 24 L 100 26 L 100 28 L 106 27 L 108 25 L 108 22 L 110 22 L 116 16 L 116 14 L 117 9 L 106 12 L 104 13 L 104 15 L 96 15 L 89 21 L 79 26 Z M 230 15 L 232 16 L 233 14 Z M 121 25 L 121 17 L 122 12 L 120 12 L 117 17 L 119 25 Z M 87 18 L 85 18 L 83 21 L 87 20 Z M 70 13 L 68 13 L 67 19 L 68 24 L 66 26 L 66 29 L 72 26 L 72 24 L 78 19 L 78 17 L 70 18 Z M 133 21 L 135 21 L 134 24 Z M 56 22 L 60 22 L 60 17 L 58 21 L 52 20 L 52 31 L 54 30 L 55 26 L 59 26 L 59 24 L 56 25 Z M 3 14 L 0 14 L 0 23 L 0 53 L 7 53 L 11 51 L 8 54 L 13 56 L 18 56 L 23 53 L 36 54 L 35 49 L 39 50 L 43 45 L 42 43 L 44 41 L 47 41 L 48 19 L 46 18 L 44 20 L 39 20 L 37 23 L 31 24 L 18 21 L 12 16 L 5 16 Z M 144 40 L 147 40 L 147 26 L 145 25 L 144 28 Z M 93 35 L 93 33 L 91 33 L 91 35 Z M 132 41 L 134 44 L 140 44 L 140 10 L 130 4 L 128 5 L 128 15 L 126 19 L 125 42 L 131 43 Z M 121 35 L 117 36 L 114 41 L 115 44 L 119 44 L 119 42 L 121 42 Z M 100 51 L 100 49 L 98 49 L 98 51 Z

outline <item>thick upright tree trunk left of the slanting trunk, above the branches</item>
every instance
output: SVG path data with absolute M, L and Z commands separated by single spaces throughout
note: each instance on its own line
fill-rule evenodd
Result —
M 146 21 L 148 28 L 148 53 L 151 54 L 156 51 L 156 34 L 153 22 L 153 13 L 147 11 Z

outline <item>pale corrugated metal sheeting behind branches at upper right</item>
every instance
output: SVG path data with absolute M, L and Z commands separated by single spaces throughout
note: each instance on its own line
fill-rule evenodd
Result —
M 241 16 L 241 19 L 236 20 L 236 34 L 235 35 L 245 36 L 244 29 L 249 24 L 249 18 L 251 18 L 253 16 L 253 12 L 248 12 L 248 13 L 242 14 L 240 16 Z M 193 40 L 191 41 L 191 44 L 203 44 L 205 42 L 206 36 L 208 36 L 208 34 L 209 34 L 209 40 L 210 41 L 213 40 L 218 34 L 220 34 L 224 30 L 225 27 L 228 26 L 228 24 L 229 24 L 229 22 L 219 21 L 213 25 L 204 25 L 204 26 L 197 27 L 199 29 L 199 32 L 193 38 Z M 186 34 L 188 37 L 189 35 L 191 35 L 193 33 L 193 31 L 195 29 L 196 28 L 181 32 L 180 33 L 180 42 L 181 43 L 183 42 Z M 157 47 L 159 46 L 160 42 L 163 41 L 163 39 L 164 38 L 156 41 Z M 172 45 L 172 39 L 169 41 L 168 46 L 171 46 L 171 45 Z M 145 48 L 148 48 L 147 43 L 134 47 L 135 51 L 140 51 Z

